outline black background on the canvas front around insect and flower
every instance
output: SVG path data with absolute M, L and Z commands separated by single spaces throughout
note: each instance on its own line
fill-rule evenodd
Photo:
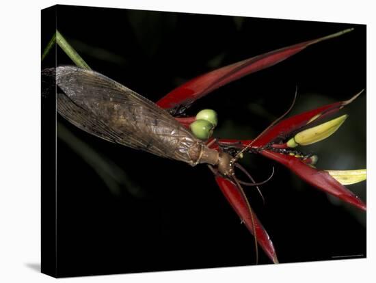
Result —
M 255 137 L 284 113 L 296 85 L 290 115 L 366 87 L 366 27 L 57 7 L 57 29 L 91 68 L 154 101 L 209 70 L 349 27 L 355 30 L 221 87 L 187 111 L 215 109 L 214 135 L 239 139 Z M 51 36 L 42 38 L 42 48 Z M 53 64 L 50 56 L 43 66 Z M 59 48 L 57 64 L 72 64 Z M 337 133 L 302 150 L 317 153 L 322 169 L 366 167 L 366 94 L 340 113 L 350 116 Z M 105 142 L 60 116 L 57 122 L 59 276 L 254 264 L 252 235 L 206 166 L 192 168 Z M 98 159 L 85 159 L 92 153 L 88 147 Z M 366 213 L 328 198 L 273 161 L 247 155 L 242 163 L 257 180 L 276 166 L 262 186 L 265 205 L 254 189 L 247 194 L 280 262 L 366 256 Z M 366 200 L 365 183 L 349 188 Z M 270 263 L 262 250 L 260 263 Z

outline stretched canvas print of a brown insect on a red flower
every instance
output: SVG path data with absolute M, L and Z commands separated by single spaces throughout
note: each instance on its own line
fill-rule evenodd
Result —
M 43 273 L 366 257 L 365 25 L 55 5 L 41 52 Z

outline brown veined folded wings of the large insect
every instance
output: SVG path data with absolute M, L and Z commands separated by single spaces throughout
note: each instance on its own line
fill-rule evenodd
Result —
M 189 150 L 200 140 L 180 126 L 167 111 L 92 70 L 56 68 L 57 111 L 97 137 L 170 159 L 192 160 Z

